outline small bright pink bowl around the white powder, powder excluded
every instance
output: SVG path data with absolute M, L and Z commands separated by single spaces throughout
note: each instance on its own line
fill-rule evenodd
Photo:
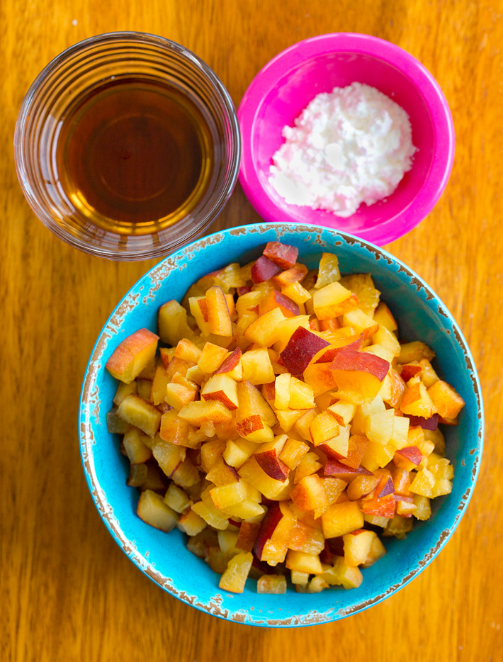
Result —
M 320 92 L 353 82 L 377 88 L 407 111 L 412 142 L 419 148 L 412 169 L 391 196 L 362 204 L 349 218 L 288 205 L 269 183 L 283 126 L 293 126 Z M 451 174 L 454 127 L 439 84 L 405 50 L 370 35 L 320 35 L 283 50 L 253 79 L 237 114 L 242 133 L 239 181 L 255 210 L 272 223 L 326 225 L 382 246 L 423 220 Z

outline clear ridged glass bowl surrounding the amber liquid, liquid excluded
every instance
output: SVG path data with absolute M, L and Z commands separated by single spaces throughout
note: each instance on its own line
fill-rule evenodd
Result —
M 210 136 L 213 159 L 209 166 L 203 162 L 204 189 L 196 195 L 196 186 L 191 205 L 169 225 L 111 227 L 96 210 L 77 203 L 79 196 L 68 193 L 64 172 L 58 172 L 57 141 L 65 118 L 103 85 L 130 79 L 175 89 L 197 109 Z M 84 252 L 132 260 L 169 254 L 208 228 L 237 181 L 240 137 L 230 96 L 207 64 L 168 39 L 118 32 L 77 43 L 47 64 L 22 103 L 14 148 L 23 193 L 47 228 Z

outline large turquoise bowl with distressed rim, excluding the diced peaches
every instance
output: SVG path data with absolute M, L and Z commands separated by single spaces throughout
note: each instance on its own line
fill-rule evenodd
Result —
M 244 593 L 226 593 L 218 576 L 186 549 L 178 529 L 169 534 L 149 527 L 135 514 L 137 490 L 125 484 L 128 461 L 118 439 L 107 432 L 106 413 L 117 383 L 105 370 L 111 353 L 140 327 L 157 329 L 157 310 L 180 300 L 188 286 L 230 262 L 259 257 L 268 241 L 299 249 L 299 261 L 317 266 L 322 251 L 339 257 L 346 274 L 370 272 L 400 325 L 400 337 L 423 340 L 436 352 L 434 367 L 465 400 L 457 427 L 446 427 L 447 456 L 455 477 L 453 491 L 432 501 L 432 516 L 415 522 L 405 540 L 385 539 L 388 554 L 363 570 L 359 588 L 285 595 L 256 593 L 247 580 Z M 152 581 L 179 600 L 230 621 L 262 627 L 327 623 L 376 605 L 426 568 L 451 537 L 473 493 L 482 456 L 482 395 L 470 350 L 451 313 L 414 271 L 389 253 L 344 232 L 305 225 L 257 224 L 216 232 L 159 262 L 140 279 L 113 311 L 91 353 L 81 393 L 81 457 L 89 490 L 115 542 Z

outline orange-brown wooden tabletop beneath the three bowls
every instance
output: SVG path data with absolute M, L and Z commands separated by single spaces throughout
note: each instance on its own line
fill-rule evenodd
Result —
M 460 324 L 485 396 L 477 488 L 456 534 L 419 578 L 342 622 L 264 630 L 171 598 L 133 566 L 86 488 L 77 410 L 103 322 L 152 262 L 81 254 L 35 218 L 18 186 L 13 130 L 28 86 L 65 47 L 109 30 L 183 43 L 236 105 L 277 52 L 321 33 L 383 37 L 441 84 L 456 159 L 434 211 L 390 251 Z M 0 11 L 2 661 L 503 660 L 503 5 L 469 1 L 4 0 Z M 259 220 L 237 187 L 214 226 Z

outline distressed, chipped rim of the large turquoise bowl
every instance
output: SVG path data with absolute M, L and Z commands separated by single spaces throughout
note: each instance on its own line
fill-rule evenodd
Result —
M 110 354 L 107 352 L 109 340 L 117 340 L 116 334 L 120 330 L 120 325 L 128 318 L 128 314 L 131 310 L 135 308 L 138 301 L 140 300 L 140 292 L 143 290 L 145 284 L 148 283 L 149 279 L 155 281 L 155 278 L 152 279 L 151 276 L 155 276 L 158 279 L 157 285 L 150 286 L 148 297 L 154 298 L 154 293 L 157 291 L 162 283 L 162 280 L 169 275 L 169 273 L 176 269 L 176 263 L 179 259 L 186 257 L 188 260 L 191 257 L 191 254 L 195 256 L 201 249 L 206 246 L 219 244 L 226 237 L 238 237 L 239 235 L 255 235 L 258 233 L 259 237 L 264 234 L 264 232 L 273 232 L 276 234 L 278 240 L 281 240 L 283 235 L 299 235 L 302 233 L 309 233 L 310 235 L 316 235 L 317 239 L 315 244 L 323 245 L 324 242 L 328 242 L 332 246 L 334 252 L 337 252 L 337 245 L 345 245 L 345 249 L 351 251 L 352 247 L 357 247 L 358 249 L 364 249 L 370 255 L 369 257 L 374 257 L 377 261 L 381 257 L 385 259 L 385 262 L 392 266 L 393 264 L 397 265 L 397 277 L 404 281 L 407 289 L 410 289 L 411 286 L 417 288 L 417 293 L 424 293 L 426 295 L 426 305 L 431 308 L 429 304 L 430 301 L 438 305 L 438 314 L 441 314 L 445 318 L 446 324 L 451 327 L 453 332 L 453 337 L 455 338 L 458 347 L 461 349 L 464 355 L 465 360 L 465 369 L 468 371 L 468 376 L 473 383 L 473 395 L 475 398 L 475 405 L 477 410 L 477 420 L 475 421 L 475 430 L 476 430 L 476 439 L 475 434 L 473 435 L 473 447 L 470 449 L 468 457 L 468 442 L 463 442 L 464 445 L 467 445 L 466 451 L 467 454 L 463 458 L 463 466 L 465 466 L 465 459 L 470 462 L 468 469 L 471 469 L 470 477 L 471 482 L 466 486 L 466 490 L 463 493 L 463 496 L 459 503 L 449 504 L 447 507 L 443 508 L 441 515 L 443 524 L 443 531 L 439 535 L 439 538 L 436 544 L 427 551 L 421 559 L 418 559 L 411 563 L 409 572 L 402 577 L 402 579 L 393 584 L 389 585 L 387 590 L 378 593 L 377 595 L 371 595 L 366 600 L 353 600 L 351 602 L 351 595 L 354 594 L 353 590 L 345 591 L 344 594 L 349 596 L 346 602 L 348 604 L 346 607 L 339 609 L 338 611 L 335 608 L 331 608 L 326 612 L 318 612 L 316 610 L 317 596 L 324 595 L 326 593 L 332 593 L 332 590 L 324 591 L 321 594 L 305 594 L 302 597 L 305 598 L 303 601 L 303 608 L 299 613 L 291 615 L 290 617 L 285 617 L 281 615 L 281 609 L 276 609 L 274 613 L 275 617 L 269 617 L 264 615 L 264 611 L 267 613 L 273 614 L 274 602 L 271 600 L 269 605 L 264 610 L 259 610 L 260 613 L 253 612 L 252 610 L 247 609 L 246 605 L 237 609 L 236 602 L 239 602 L 244 594 L 234 595 L 230 593 L 225 593 L 220 591 L 217 585 L 217 580 L 215 581 L 215 595 L 210 600 L 199 600 L 198 595 L 191 595 L 187 593 L 187 587 L 184 585 L 186 577 L 181 573 L 181 578 L 176 578 L 176 573 L 174 573 L 174 578 L 163 576 L 162 573 L 159 573 L 154 567 L 155 563 L 150 561 L 146 556 L 142 556 L 137 552 L 136 541 L 129 539 L 123 532 L 120 522 L 117 518 L 114 517 L 113 508 L 109 503 L 106 487 L 102 486 L 98 481 L 96 476 L 96 466 L 95 466 L 95 447 L 96 447 L 96 436 L 101 432 L 100 425 L 98 423 L 98 414 L 94 416 L 91 415 L 93 408 L 99 409 L 99 386 L 96 383 L 96 379 L 104 371 L 104 365 L 102 365 L 103 354 Z M 268 237 L 267 240 L 271 240 L 271 237 Z M 266 240 L 259 242 L 251 242 L 248 246 L 256 247 L 256 245 L 264 244 Z M 318 248 L 317 252 L 321 252 L 322 247 Z M 225 260 L 224 260 L 225 262 Z M 207 273 L 212 269 L 212 264 L 208 264 L 208 267 L 205 269 L 204 273 Z M 386 267 L 388 269 L 388 267 Z M 405 274 L 402 276 L 401 274 Z M 405 282 L 405 279 L 408 279 L 408 282 Z M 190 284 L 190 283 L 189 283 Z M 383 296 L 385 299 L 385 295 Z M 144 298 L 145 301 L 145 298 Z M 432 313 L 435 311 L 431 308 Z M 399 320 L 400 323 L 400 320 Z M 131 331 L 132 332 L 132 331 Z M 450 332 L 450 331 L 448 331 Z M 120 338 L 122 340 L 122 338 Z M 115 343 L 118 344 L 118 343 Z M 113 347 L 115 347 L 113 344 Z M 104 364 L 104 361 L 103 361 Z M 108 407 L 107 407 L 108 410 Z M 105 436 L 108 435 L 108 432 L 104 431 Z M 418 276 L 412 269 L 407 267 L 400 259 L 392 256 L 390 253 L 384 249 L 377 247 L 370 242 L 361 240 L 354 235 L 349 235 L 347 232 L 342 232 L 340 230 L 333 230 L 331 228 L 324 228 L 322 226 L 316 225 L 300 225 L 295 224 L 289 226 L 283 223 L 256 223 L 253 225 L 242 225 L 236 228 L 229 228 L 227 230 L 220 230 L 214 232 L 212 235 L 203 237 L 202 239 L 196 240 L 191 244 L 183 247 L 179 251 L 171 256 L 166 257 L 164 260 L 159 262 L 157 265 L 152 267 L 147 273 L 142 276 L 137 283 L 130 288 L 130 291 L 123 297 L 123 299 L 118 303 L 118 305 L 111 313 L 110 317 L 103 325 L 103 329 L 98 335 L 98 339 L 94 344 L 94 348 L 91 352 L 91 357 L 86 366 L 86 372 L 84 374 L 84 381 L 81 389 L 81 401 L 80 401 L 80 410 L 79 410 L 79 439 L 80 439 L 80 451 L 81 451 L 81 461 L 84 468 L 84 475 L 86 477 L 86 482 L 91 493 L 91 497 L 94 500 L 94 504 L 106 525 L 108 532 L 112 535 L 115 542 L 120 546 L 120 549 L 128 556 L 128 558 L 135 563 L 137 568 L 140 570 L 154 583 L 157 583 L 161 588 L 166 590 L 166 592 L 174 595 L 175 598 L 178 598 L 182 602 L 186 602 L 188 605 L 196 607 L 196 609 L 210 613 L 222 619 L 232 620 L 234 622 L 241 622 L 250 625 L 256 625 L 261 627 L 296 627 L 296 626 L 305 626 L 311 624 L 321 624 L 332 622 L 334 620 L 345 618 L 349 615 L 356 614 L 363 610 L 368 609 L 373 605 L 377 605 L 379 602 L 382 602 L 386 598 L 390 597 L 400 590 L 405 585 L 407 585 L 414 577 L 418 576 L 426 566 L 433 561 L 433 559 L 439 554 L 443 546 L 448 542 L 448 539 L 451 538 L 453 532 L 458 527 L 458 524 L 466 512 L 468 503 L 473 494 L 473 489 L 475 488 L 475 483 L 477 480 L 478 472 L 480 469 L 480 461 L 482 458 L 482 447 L 483 447 L 483 437 L 484 437 L 484 415 L 483 415 L 483 402 L 482 402 L 482 391 L 480 388 L 480 381 L 477 376 L 477 370 L 475 368 L 475 362 L 468 348 L 468 344 L 463 337 L 460 328 L 456 320 L 454 320 L 451 313 L 448 311 L 446 306 L 443 304 L 439 296 Z M 463 445 L 463 448 L 464 448 Z M 455 479 L 456 481 L 456 476 Z M 129 488 L 130 489 L 130 488 Z M 440 499 L 445 499 L 442 497 Z M 133 517 L 136 517 L 133 514 Z M 426 522 L 427 524 L 428 522 Z M 145 525 L 147 526 L 147 525 Z M 414 529 L 415 530 L 415 529 Z M 166 534 L 164 534 L 166 535 Z M 167 534 L 171 535 L 171 534 Z M 390 540 L 390 539 L 387 539 Z M 186 554 L 191 554 L 186 551 Z M 196 558 L 196 557 L 194 557 Z M 203 563 L 201 561 L 201 563 Z M 378 566 L 378 564 L 376 564 Z M 365 571 L 368 572 L 368 571 Z M 217 575 L 215 574 L 215 578 Z M 251 581 L 251 580 L 249 580 Z M 364 578 L 362 587 L 365 585 L 366 579 Z M 293 593 L 293 596 L 299 596 L 300 594 Z M 261 596 L 264 598 L 264 595 Z M 281 598 L 281 596 L 271 595 L 266 596 L 266 598 Z M 234 605 L 232 604 L 234 602 Z M 252 607 L 253 609 L 253 607 Z M 234 610 L 234 611 L 233 611 Z

